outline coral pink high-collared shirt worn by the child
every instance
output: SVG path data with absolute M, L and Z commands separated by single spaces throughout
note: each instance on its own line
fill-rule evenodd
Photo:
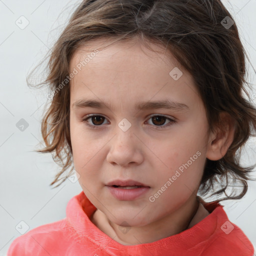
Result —
M 96 208 L 82 191 L 68 201 L 64 219 L 17 237 L 7 256 L 252 256 L 251 242 L 228 221 L 223 205 L 203 206 L 210 214 L 189 229 L 150 243 L 122 245 L 90 221 Z

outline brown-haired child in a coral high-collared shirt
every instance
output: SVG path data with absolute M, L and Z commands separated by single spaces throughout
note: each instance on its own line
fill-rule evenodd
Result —
M 82 192 L 7 255 L 252 256 L 219 203 L 254 167 L 236 154 L 256 130 L 244 54 L 220 0 L 83 0 L 51 51 L 39 150 L 62 160 L 51 185 L 73 163 Z

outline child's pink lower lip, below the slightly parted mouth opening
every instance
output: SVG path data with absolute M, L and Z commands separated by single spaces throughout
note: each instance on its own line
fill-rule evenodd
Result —
M 118 188 L 113 186 L 107 186 L 110 193 L 118 200 L 134 200 L 146 193 L 150 187 L 142 186 L 137 188 Z

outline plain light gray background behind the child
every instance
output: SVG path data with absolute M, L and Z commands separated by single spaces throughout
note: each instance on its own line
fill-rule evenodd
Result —
M 75 0 L 0 0 L 0 255 L 21 235 L 15 226 L 29 230 L 65 217 L 68 200 L 82 189 L 67 179 L 60 187 L 49 183 L 58 170 L 50 154 L 33 152 L 40 145 L 40 120 L 47 101 L 45 89 L 30 89 L 26 75 L 44 56 L 74 8 Z M 256 69 L 256 0 L 223 1 L 239 27 L 241 40 Z M 23 15 L 29 24 L 16 25 Z M 22 18 L 21 18 L 22 19 Z M 22 19 L 24 25 L 25 19 Z M 21 24 L 20 24 L 21 25 Z M 255 84 L 251 67 L 250 82 Z M 256 94 L 251 91 L 255 103 Z M 24 118 L 28 127 L 16 123 Z M 255 140 L 247 143 L 242 161 L 255 160 Z M 256 181 L 239 201 L 222 202 L 227 215 L 256 246 Z M 22 229 L 21 228 L 21 229 Z M 21 230 L 19 229 L 19 230 Z

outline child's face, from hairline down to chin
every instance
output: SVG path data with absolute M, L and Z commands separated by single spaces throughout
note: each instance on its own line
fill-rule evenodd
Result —
M 70 72 L 78 71 L 70 83 L 74 167 L 84 193 L 110 221 L 146 225 L 195 199 L 209 143 L 205 108 L 191 75 L 180 66 L 180 78 L 175 69 L 169 74 L 177 66 L 173 57 L 143 47 L 146 55 L 139 43 L 119 42 L 95 54 L 100 44 L 91 45 L 77 50 L 70 62 Z M 79 64 L 86 57 L 84 66 Z M 75 107 L 79 100 L 99 101 L 102 107 Z M 187 107 L 134 108 L 162 100 Z M 89 114 L 99 116 L 82 122 Z M 121 200 L 106 185 L 115 179 L 149 188 Z

